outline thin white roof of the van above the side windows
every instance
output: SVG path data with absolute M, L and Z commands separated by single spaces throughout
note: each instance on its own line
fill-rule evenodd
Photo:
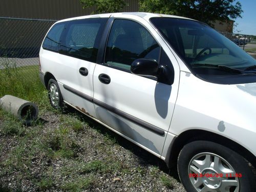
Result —
M 108 18 L 108 17 L 127 17 L 127 18 L 129 18 L 130 16 L 138 16 L 138 17 L 144 18 L 146 20 L 151 17 L 173 17 L 173 18 L 190 19 L 190 18 L 176 16 L 176 15 L 166 15 L 166 14 L 159 14 L 159 13 L 123 12 L 123 13 L 105 13 L 105 14 L 72 17 L 72 18 L 59 20 L 58 22 L 66 22 L 68 20 L 83 19 L 83 18 Z M 193 20 L 193 19 L 191 19 L 191 20 Z

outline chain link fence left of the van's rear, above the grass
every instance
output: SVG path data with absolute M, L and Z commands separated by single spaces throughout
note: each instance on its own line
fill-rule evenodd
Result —
M 14 68 L 27 68 L 31 73 L 38 73 L 40 45 L 55 22 L 56 20 L 0 17 L 0 75 L 1 71 L 4 73 L 7 69 Z

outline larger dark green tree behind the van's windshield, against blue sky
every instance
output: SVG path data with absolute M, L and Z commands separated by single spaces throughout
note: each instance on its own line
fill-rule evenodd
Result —
M 219 20 L 241 17 L 240 2 L 235 0 L 140 0 L 140 11 L 179 15 L 200 20 L 208 25 Z

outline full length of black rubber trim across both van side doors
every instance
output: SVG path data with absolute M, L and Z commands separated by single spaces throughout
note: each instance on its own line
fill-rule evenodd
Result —
M 152 131 L 152 132 L 154 132 L 154 133 L 156 133 L 158 135 L 161 135 L 161 136 L 164 135 L 164 131 L 162 129 L 160 129 L 159 127 L 157 127 L 157 126 L 154 126 L 154 125 L 152 125 L 150 123 L 147 123 L 147 122 L 145 122 L 143 120 L 140 120 L 140 119 L 138 119 L 138 118 L 136 118 L 136 117 L 134 117 L 132 115 L 129 115 L 129 114 L 125 113 L 125 112 L 122 112 L 122 111 L 114 108 L 111 105 L 108 105 L 108 104 L 106 104 L 104 102 L 101 102 L 101 101 L 99 101 L 97 99 L 94 99 L 93 97 L 90 97 L 90 96 L 88 96 L 86 94 L 83 94 L 83 93 L 81 93 L 81 92 L 79 92 L 79 91 L 77 91 L 77 90 L 75 90 L 75 89 L 73 89 L 73 88 L 71 88 L 69 86 L 66 86 L 65 84 L 63 84 L 63 88 L 65 88 L 66 90 L 68 90 L 68 91 L 70 91 L 70 92 L 72 92 L 72 93 L 74 93 L 74 94 L 76 94 L 76 95 L 78 95 L 78 96 L 80 96 L 80 97 L 90 101 L 90 102 L 93 102 L 93 103 L 101 106 L 102 108 L 104 108 L 106 110 L 109 110 L 109 111 L 111 111 L 111 112 L 113 112 L 113 113 L 115 113 L 115 114 L 117 114 L 117 115 L 119 115 L 119 116 L 129 120 L 129 121 L 132 121 L 132 122 L 134 122 L 134 123 L 136 123 L 136 124 L 138 124 L 140 126 L 143 126 L 147 130 L 150 130 L 150 131 Z

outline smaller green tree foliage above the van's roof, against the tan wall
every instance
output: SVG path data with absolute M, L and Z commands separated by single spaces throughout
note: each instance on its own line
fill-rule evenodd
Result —
M 128 6 L 124 0 L 80 0 L 82 8 L 95 8 L 92 14 L 120 12 L 124 6 Z

